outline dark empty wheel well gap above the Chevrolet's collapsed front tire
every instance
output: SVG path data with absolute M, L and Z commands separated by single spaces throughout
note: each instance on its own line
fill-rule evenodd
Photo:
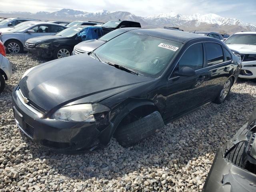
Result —
M 158 108 L 154 105 L 142 105 L 130 111 L 118 124 L 117 128 L 120 126 L 124 126 L 126 124 L 132 123 L 140 118 L 143 118 L 154 111 L 159 111 Z

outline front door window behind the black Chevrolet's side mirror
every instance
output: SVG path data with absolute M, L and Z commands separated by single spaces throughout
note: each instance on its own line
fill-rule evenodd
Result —
M 179 69 L 187 66 L 194 70 L 203 68 L 203 47 L 202 43 L 190 46 L 182 55 L 179 61 Z

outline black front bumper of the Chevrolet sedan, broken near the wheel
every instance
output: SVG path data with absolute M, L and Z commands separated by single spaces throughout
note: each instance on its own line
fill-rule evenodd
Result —
M 102 148 L 99 140 L 102 130 L 111 127 L 109 122 L 67 122 L 39 117 L 24 106 L 16 93 L 12 92 L 14 118 L 26 136 L 48 149 L 61 153 L 85 152 Z

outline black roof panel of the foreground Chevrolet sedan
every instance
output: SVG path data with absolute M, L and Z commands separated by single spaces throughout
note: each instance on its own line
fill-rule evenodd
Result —
M 138 28 L 138 29 L 132 30 L 132 32 L 154 36 L 158 38 L 163 38 L 163 39 L 176 41 L 180 43 L 184 43 L 186 40 L 193 39 L 193 38 L 210 38 L 208 36 L 202 36 L 194 33 L 164 29 L 164 28 Z

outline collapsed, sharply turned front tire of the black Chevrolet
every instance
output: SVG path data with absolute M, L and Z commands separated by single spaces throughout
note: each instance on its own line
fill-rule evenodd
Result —
M 153 135 L 156 130 L 163 126 L 164 122 L 160 113 L 155 111 L 130 124 L 118 127 L 114 137 L 121 146 L 128 147 Z

